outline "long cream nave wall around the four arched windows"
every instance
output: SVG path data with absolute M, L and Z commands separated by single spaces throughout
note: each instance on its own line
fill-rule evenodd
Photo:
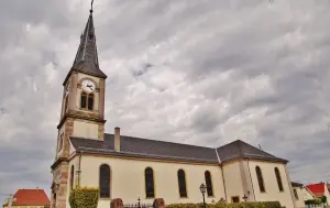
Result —
M 84 155 L 81 160 L 81 186 L 99 186 L 99 167 L 108 164 L 111 168 L 111 198 L 122 198 L 124 204 L 152 202 L 145 198 L 144 169 L 154 171 L 155 197 L 164 198 L 166 204 L 201 202 L 199 186 L 205 182 L 205 172 L 212 177 L 215 197 L 206 197 L 207 202 L 218 201 L 224 197 L 221 168 L 218 165 L 184 164 L 170 162 L 155 162 L 119 157 L 100 157 Z M 186 174 L 187 198 L 179 197 L 177 172 L 183 168 Z M 110 199 L 100 199 L 99 208 L 108 208 Z

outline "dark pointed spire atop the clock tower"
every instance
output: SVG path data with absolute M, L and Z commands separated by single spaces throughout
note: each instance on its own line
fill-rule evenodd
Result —
M 92 19 L 92 3 L 90 14 L 85 26 L 84 33 L 80 35 L 80 44 L 73 65 L 73 70 L 86 73 L 101 78 L 107 75 L 99 68 L 98 50 L 96 44 L 96 34 Z

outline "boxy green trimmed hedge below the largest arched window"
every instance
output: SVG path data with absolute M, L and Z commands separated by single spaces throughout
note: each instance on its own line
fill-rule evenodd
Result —
M 72 208 L 97 208 L 99 189 L 76 187 L 70 191 L 69 204 Z

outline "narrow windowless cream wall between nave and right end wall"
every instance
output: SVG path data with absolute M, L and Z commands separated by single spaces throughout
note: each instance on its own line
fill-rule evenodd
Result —
M 226 184 L 226 194 L 228 202 L 232 202 L 233 197 L 239 197 L 242 201 L 244 196 L 240 163 L 232 162 L 223 165 L 223 177 Z

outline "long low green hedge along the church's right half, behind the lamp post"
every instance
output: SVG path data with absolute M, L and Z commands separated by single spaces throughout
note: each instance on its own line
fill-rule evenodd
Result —
M 172 204 L 166 208 L 201 208 L 202 204 Z M 216 202 L 207 204 L 207 208 L 282 208 L 278 201 L 260 201 L 260 202 Z

